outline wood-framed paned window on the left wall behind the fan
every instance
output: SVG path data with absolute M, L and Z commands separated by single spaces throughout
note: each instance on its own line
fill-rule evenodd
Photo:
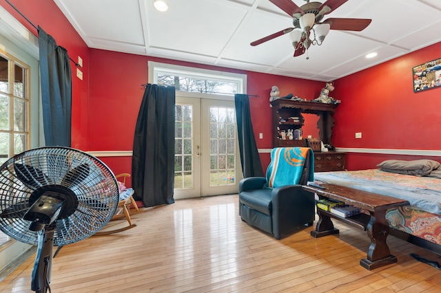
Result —
M 28 149 L 29 67 L 0 52 L 0 164 Z

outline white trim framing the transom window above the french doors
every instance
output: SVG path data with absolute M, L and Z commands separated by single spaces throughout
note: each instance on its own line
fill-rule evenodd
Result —
M 177 75 L 183 74 L 185 76 L 192 76 L 195 78 L 209 78 L 210 80 L 219 80 L 227 82 L 237 82 L 238 83 L 238 94 L 243 94 L 247 92 L 247 75 L 246 74 L 235 74 L 232 72 L 222 72 L 219 70 L 211 69 L 201 69 L 196 67 L 187 67 L 181 65 L 173 65 L 168 63 L 158 63 L 154 61 L 148 61 L 148 75 L 149 83 L 157 83 L 158 73 L 160 72 L 170 72 L 176 73 Z M 193 98 L 211 98 L 214 100 L 234 100 L 233 95 L 222 95 L 222 94 L 207 94 L 207 93 L 197 93 L 197 92 L 187 92 L 179 91 L 179 96 L 183 97 L 193 97 Z

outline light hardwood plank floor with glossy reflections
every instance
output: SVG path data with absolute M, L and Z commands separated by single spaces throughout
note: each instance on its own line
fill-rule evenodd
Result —
M 409 256 L 441 263 L 437 254 L 389 236 L 398 263 L 368 271 L 359 265 L 365 232 L 334 221 L 340 236 L 314 239 L 309 227 L 278 241 L 240 220 L 237 195 L 178 200 L 132 219 L 136 228 L 61 249 L 52 292 L 441 292 L 441 270 Z M 0 291 L 30 292 L 33 263 Z

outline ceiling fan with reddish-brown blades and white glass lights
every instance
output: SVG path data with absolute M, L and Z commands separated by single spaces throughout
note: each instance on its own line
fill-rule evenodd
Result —
M 360 32 L 367 28 L 371 19 L 343 19 L 329 18 L 322 21 L 325 14 L 336 10 L 348 0 L 327 0 L 325 3 L 309 2 L 298 7 L 291 0 L 269 0 L 278 8 L 289 14 L 293 18 L 294 28 L 285 28 L 262 39 L 252 42 L 250 45 L 256 46 L 266 41 L 272 40 L 283 34 L 290 34 L 292 45 L 294 46 L 294 57 L 307 52 L 311 45 L 322 45 L 329 30 L 351 30 Z M 300 30 L 296 30 L 300 29 Z M 311 39 L 311 32 L 314 38 Z M 307 57 L 309 59 L 309 57 Z

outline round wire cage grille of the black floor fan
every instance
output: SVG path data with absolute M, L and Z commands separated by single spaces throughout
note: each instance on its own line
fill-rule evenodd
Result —
M 54 246 L 92 236 L 107 224 L 119 202 L 119 187 L 98 158 L 67 147 L 43 147 L 15 155 L 0 167 L 0 230 L 24 243 L 37 245 L 23 215 L 38 188 L 61 186 L 78 199 L 68 217 L 56 220 Z M 31 203 L 32 204 L 32 203 Z

